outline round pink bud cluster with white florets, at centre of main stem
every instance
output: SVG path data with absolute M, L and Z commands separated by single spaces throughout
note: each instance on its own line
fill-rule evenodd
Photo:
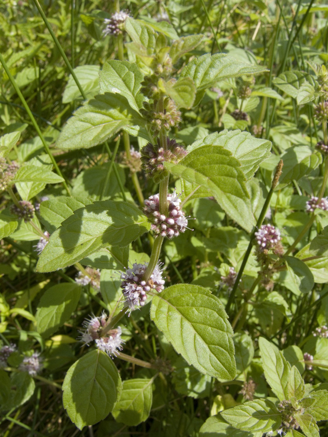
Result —
M 178 236 L 180 232 L 185 232 L 187 229 L 188 220 L 185 213 L 180 208 L 181 200 L 176 195 L 168 195 L 168 215 L 159 212 L 159 195 L 150 196 L 145 201 L 144 213 L 152 221 L 151 229 L 155 235 L 166 236 L 169 239 Z

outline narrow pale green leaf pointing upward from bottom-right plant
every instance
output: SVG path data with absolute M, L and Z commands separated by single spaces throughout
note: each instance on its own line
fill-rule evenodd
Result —
M 288 398 L 287 384 L 291 366 L 276 346 L 263 337 L 259 338 L 259 350 L 265 379 L 280 401 Z

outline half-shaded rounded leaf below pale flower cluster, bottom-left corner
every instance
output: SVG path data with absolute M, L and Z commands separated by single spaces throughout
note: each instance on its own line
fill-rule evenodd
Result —
M 34 393 L 35 382 L 27 372 L 15 372 L 10 376 L 10 393 L 5 408 L 11 410 L 28 401 Z

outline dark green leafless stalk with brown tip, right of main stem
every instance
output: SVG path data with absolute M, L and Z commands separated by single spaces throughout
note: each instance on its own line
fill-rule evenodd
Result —
M 242 273 L 243 273 L 243 271 L 245 269 L 245 266 L 246 266 L 246 263 L 248 261 L 249 255 L 251 254 L 251 251 L 252 251 L 253 239 L 255 237 L 255 232 L 257 231 L 257 229 L 259 229 L 259 227 L 261 226 L 261 224 L 262 224 L 262 222 L 263 222 L 263 220 L 265 218 L 265 214 L 266 214 L 266 211 L 267 211 L 267 209 L 268 209 L 268 207 L 270 205 L 270 201 L 271 201 L 271 197 L 273 195 L 274 189 L 275 189 L 276 185 L 278 184 L 278 180 L 279 180 L 279 177 L 280 177 L 280 174 L 281 174 L 282 165 L 283 165 L 283 162 L 282 162 L 282 160 L 280 160 L 279 164 L 276 167 L 276 172 L 275 172 L 275 176 L 274 176 L 274 179 L 273 179 L 270 191 L 269 191 L 269 193 L 268 193 L 268 195 L 267 195 L 267 197 L 265 199 L 264 205 L 263 205 L 262 210 L 261 210 L 261 212 L 259 214 L 258 221 L 257 221 L 257 223 L 256 223 L 256 225 L 255 225 L 255 227 L 254 227 L 254 229 L 252 231 L 248 247 L 246 249 L 245 255 L 244 255 L 243 260 L 242 260 L 241 268 L 239 269 L 239 272 L 238 272 L 237 277 L 236 277 L 235 284 L 233 286 L 233 289 L 232 289 L 232 291 L 230 293 L 228 302 L 226 304 L 226 307 L 225 307 L 225 311 L 226 312 L 229 311 L 231 303 L 233 302 L 233 300 L 235 298 L 237 287 L 239 286 L 239 281 L 240 281 L 240 279 L 242 277 Z

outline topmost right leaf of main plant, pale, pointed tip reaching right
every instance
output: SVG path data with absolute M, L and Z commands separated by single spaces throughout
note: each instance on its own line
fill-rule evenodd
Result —
M 223 79 L 242 76 L 243 74 L 255 74 L 266 71 L 258 67 L 238 61 L 236 58 L 225 53 L 209 53 L 194 58 L 183 67 L 180 77 L 190 77 L 196 88 L 206 89 Z

